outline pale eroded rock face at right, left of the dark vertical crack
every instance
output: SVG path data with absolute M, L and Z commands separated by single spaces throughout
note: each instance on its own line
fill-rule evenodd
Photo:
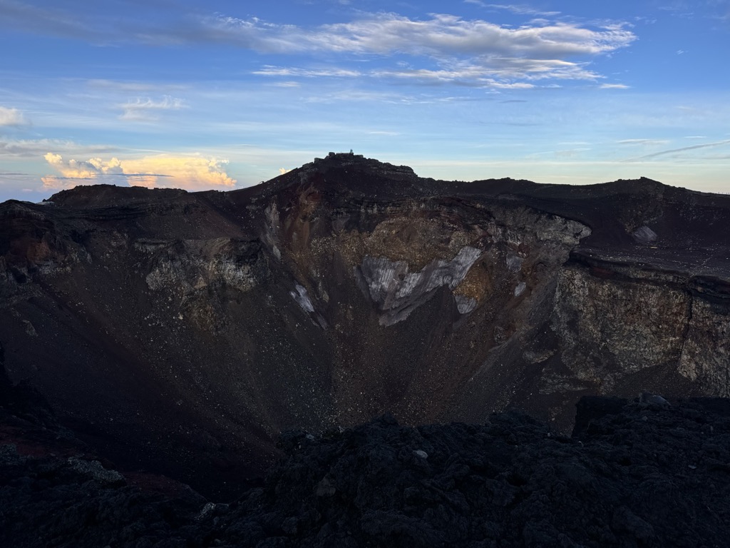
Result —
M 617 378 L 676 365 L 682 354 L 691 295 L 642 281 L 612 281 L 580 267 L 558 275 L 551 327 L 564 364 L 610 394 Z

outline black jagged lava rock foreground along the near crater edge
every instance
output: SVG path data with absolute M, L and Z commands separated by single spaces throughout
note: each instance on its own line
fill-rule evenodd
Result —
M 0 546 L 727 546 L 730 402 L 657 401 L 584 397 L 572 437 L 518 411 L 288 433 L 261 487 L 216 503 L 115 471 L 6 379 Z

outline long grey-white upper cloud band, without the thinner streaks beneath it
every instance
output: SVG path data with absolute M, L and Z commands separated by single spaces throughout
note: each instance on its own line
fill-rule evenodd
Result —
M 621 28 L 591 30 L 576 24 L 504 28 L 484 20 L 464 20 L 437 14 L 411 20 L 394 13 L 372 14 L 350 23 L 314 29 L 219 16 L 206 25 L 221 41 L 266 53 L 359 53 L 416 56 L 523 56 L 555 58 L 608 53 L 631 43 L 635 36 Z

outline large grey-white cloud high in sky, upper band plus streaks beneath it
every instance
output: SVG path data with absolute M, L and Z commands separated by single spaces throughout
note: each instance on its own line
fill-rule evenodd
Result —
M 339 53 L 388 58 L 407 54 L 426 58 L 438 69 L 415 68 L 361 73 L 348 69 L 301 69 L 265 66 L 258 75 L 285 77 L 356 77 L 425 75 L 431 80 L 464 78 L 510 80 L 595 80 L 585 61 L 626 47 L 636 36 L 621 24 L 592 29 L 577 23 L 545 20 L 520 28 L 506 28 L 485 20 L 464 20 L 456 15 L 432 15 L 412 20 L 393 14 L 367 15 L 350 23 L 317 28 L 274 25 L 258 19 L 211 18 L 205 21 L 220 40 L 266 53 Z M 397 65 L 397 63 L 396 63 Z M 467 74 L 474 73 L 473 75 Z M 510 82 L 506 82 L 510 83 Z M 618 86 L 618 85 L 617 85 Z

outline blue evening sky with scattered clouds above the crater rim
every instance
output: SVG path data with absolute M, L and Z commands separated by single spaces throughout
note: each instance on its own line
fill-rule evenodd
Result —
M 730 0 L 0 0 L 0 200 L 329 151 L 730 192 Z

